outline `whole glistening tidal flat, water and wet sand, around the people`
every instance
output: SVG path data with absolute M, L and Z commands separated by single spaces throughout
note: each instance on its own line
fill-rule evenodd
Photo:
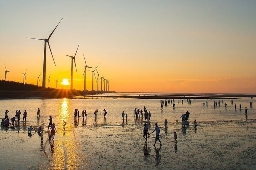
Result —
M 233 100 L 237 111 L 230 100 L 224 100 L 227 109 L 222 103 L 214 108 L 213 101 L 208 100 L 206 107 L 202 104 L 206 102 L 204 99 L 192 100 L 192 104 L 186 100 L 183 104 L 179 100 L 178 104 L 175 100 L 175 109 L 168 104 L 161 111 L 160 100 L 152 99 L 0 100 L 2 118 L 6 109 L 10 111 L 9 117 L 14 116 L 16 109 L 22 113 L 27 110 L 26 123 L 21 121 L 0 131 L 3 144 L 0 165 L 3 169 L 254 169 L 256 114 L 249 103 L 255 100 Z M 143 119 L 133 117 L 135 107 L 143 110 L 144 106 L 151 112 L 149 131 L 153 131 L 155 122 L 161 128 L 161 148 L 152 146 L 155 133 L 144 147 Z M 37 107 L 41 110 L 39 119 Z M 248 108 L 247 117 L 245 107 Z M 86 121 L 80 117 L 74 122 L 75 108 L 80 110 L 80 116 L 82 110 L 87 110 Z M 95 120 L 93 112 L 96 109 L 99 113 Z M 107 110 L 107 119 L 104 119 L 103 109 Z M 128 115 L 124 122 L 122 110 Z M 179 117 L 187 110 L 190 125 L 181 128 Z M 46 133 L 50 115 L 58 131 L 52 147 Z M 68 122 L 65 131 L 63 119 Z M 165 119 L 169 122 L 168 129 L 163 127 Z M 196 130 L 194 119 L 198 121 Z M 43 135 L 32 133 L 34 135 L 29 137 L 27 128 L 30 125 L 34 128 L 43 125 Z M 173 131 L 178 134 L 176 146 Z M 150 155 L 144 156 L 147 151 Z

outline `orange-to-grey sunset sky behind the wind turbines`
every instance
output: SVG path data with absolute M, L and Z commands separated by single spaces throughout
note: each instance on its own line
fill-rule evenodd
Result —
M 256 1 L 0 0 L 0 79 L 84 89 L 84 58 L 120 92 L 256 94 Z M 5 65 L 4 65 L 5 64 Z M 90 70 L 90 69 L 87 69 Z M 97 75 L 96 75 L 97 76 Z M 42 76 L 40 76 L 42 83 Z M 94 89 L 97 89 L 94 79 Z M 47 80 L 46 80 L 47 86 Z M 99 85 L 100 86 L 100 85 Z M 64 85 L 70 88 L 70 85 Z M 86 89 L 92 73 L 86 71 Z

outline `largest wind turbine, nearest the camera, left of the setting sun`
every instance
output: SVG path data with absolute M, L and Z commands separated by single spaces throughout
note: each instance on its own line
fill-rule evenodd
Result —
M 62 18 L 63 19 L 63 18 Z M 61 19 L 61 20 L 62 20 Z M 61 21 L 60 20 L 60 21 Z M 59 23 L 60 23 L 59 21 Z M 59 23 L 57 24 L 57 26 L 59 25 Z M 57 26 L 53 29 L 53 32 L 55 31 L 55 29 L 57 28 Z M 51 47 L 50 47 L 50 44 L 49 44 L 49 39 L 51 38 L 51 36 L 53 35 L 53 32 L 50 34 L 50 36 L 48 37 L 48 39 L 37 39 L 37 40 L 43 40 L 44 41 L 44 54 L 43 54 L 43 86 L 45 88 L 45 81 L 46 81 L 46 43 L 48 44 L 49 46 L 49 49 L 50 49 L 50 52 L 52 54 L 52 57 L 53 57 L 53 53 L 52 53 L 52 50 L 51 50 Z M 29 39 L 36 39 L 36 38 L 29 38 Z M 55 64 L 55 61 L 54 61 L 54 58 L 53 58 L 53 62 L 54 62 L 54 65 L 56 66 Z

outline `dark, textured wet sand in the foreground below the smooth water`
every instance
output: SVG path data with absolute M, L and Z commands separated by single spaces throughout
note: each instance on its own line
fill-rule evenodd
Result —
M 149 126 L 153 131 L 154 121 Z M 181 128 L 160 125 L 162 147 L 154 144 L 155 133 L 144 147 L 143 122 L 103 124 L 74 122 L 58 125 L 54 147 L 44 127 L 43 136 L 27 136 L 27 125 L 2 128 L 2 169 L 254 169 L 256 167 L 256 120 L 199 122 Z M 178 134 L 177 146 L 173 131 Z M 177 147 L 177 149 L 175 149 Z M 147 148 L 147 149 L 146 149 Z M 148 156 L 144 152 L 149 151 Z M 6 153 L 6 154 L 5 154 Z

